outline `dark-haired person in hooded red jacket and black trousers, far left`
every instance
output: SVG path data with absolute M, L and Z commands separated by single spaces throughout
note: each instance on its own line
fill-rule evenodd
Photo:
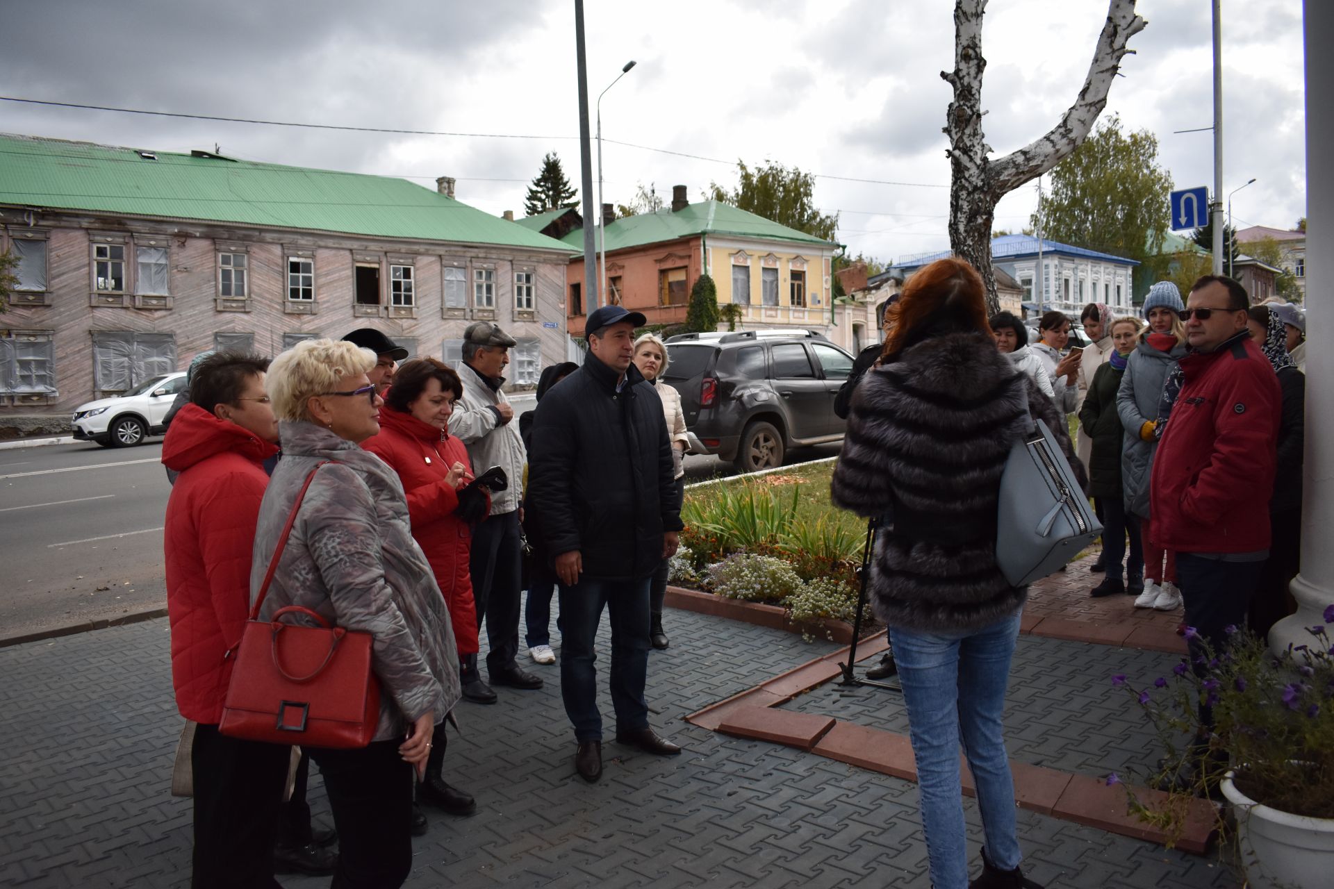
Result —
M 163 462 L 180 473 L 167 501 L 167 613 L 176 708 L 197 722 L 195 853 L 191 885 L 268 886 L 291 748 L 217 732 L 229 653 L 249 612 L 251 549 L 277 453 L 277 421 L 264 392 L 268 361 L 219 353 L 196 369 Z

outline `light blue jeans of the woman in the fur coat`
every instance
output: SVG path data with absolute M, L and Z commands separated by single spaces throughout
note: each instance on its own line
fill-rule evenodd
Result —
M 1000 716 L 1019 612 L 972 633 L 891 628 L 916 758 L 922 833 L 936 889 L 968 885 L 959 742 L 978 789 L 987 857 L 1002 870 L 1019 866 L 1014 781 Z

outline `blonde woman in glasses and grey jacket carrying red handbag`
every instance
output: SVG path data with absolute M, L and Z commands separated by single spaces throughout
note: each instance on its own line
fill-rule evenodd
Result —
M 412 868 L 412 769 L 459 700 L 459 656 L 444 597 L 412 540 L 398 473 L 360 441 L 379 432 L 366 372 L 375 355 L 346 341 L 305 340 L 269 365 L 283 460 L 264 492 L 251 565 L 259 592 L 297 492 L 316 465 L 260 620 L 301 605 L 370 633 L 380 717 L 359 750 L 311 748 L 320 766 L 340 856 L 336 886 L 399 886 Z M 297 621 L 300 617 L 296 618 Z

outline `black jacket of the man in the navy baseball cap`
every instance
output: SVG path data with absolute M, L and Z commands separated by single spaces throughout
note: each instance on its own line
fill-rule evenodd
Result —
M 538 403 L 528 500 L 548 558 L 579 550 L 590 578 L 640 580 L 680 510 L 662 400 L 632 364 L 616 379 L 588 355 Z

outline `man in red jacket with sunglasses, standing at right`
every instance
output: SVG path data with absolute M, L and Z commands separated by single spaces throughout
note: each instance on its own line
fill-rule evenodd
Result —
M 1269 500 L 1282 396 L 1269 359 L 1250 339 L 1246 289 L 1230 277 L 1195 281 L 1179 313 L 1189 353 L 1182 384 L 1154 460 L 1153 542 L 1177 552 L 1177 578 L 1195 672 L 1202 642 L 1218 652 L 1229 628 L 1246 622 L 1269 557 Z M 1202 725 L 1213 714 L 1201 701 Z M 1197 757 L 1207 738 L 1197 738 Z M 1217 752 L 1214 753 L 1217 756 Z M 1187 764 L 1194 768 L 1194 764 Z M 1189 773 L 1181 776 L 1189 778 Z

